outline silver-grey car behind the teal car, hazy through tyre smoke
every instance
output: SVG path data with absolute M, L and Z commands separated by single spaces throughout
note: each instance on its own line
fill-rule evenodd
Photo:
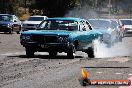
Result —
M 118 21 L 115 19 L 89 19 L 91 26 L 103 33 L 103 41 L 109 47 L 115 42 L 122 41 Z

